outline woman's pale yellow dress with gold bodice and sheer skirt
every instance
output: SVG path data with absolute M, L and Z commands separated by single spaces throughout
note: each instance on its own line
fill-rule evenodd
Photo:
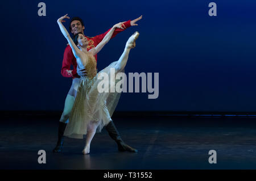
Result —
M 110 68 L 114 68 L 117 61 L 112 62 L 108 67 L 97 73 L 97 63 L 94 56 L 91 54 L 87 56 L 88 61 L 85 66 L 87 75 L 86 77 L 80 78 L 76 100 L 64 132 L 64 136 L 71 138 L 83 138 L 87 133 L 88 125 L 92 124 L 93 121 L 98 123 L 96 132 L 101 132 L 101 129 L 111 121 L 111 116 L 121 95 L 121 93 L 116 91 L 110 92 L 110 82 L 114 81 L 114 84 L 112 82 L 112 86 L 115 86 L 120 81 L 115 79 L 110 80 Z M 108 92 L 100 93 L 97 89 L 98 83 L 102 81 L 102 79 L 97 78 L 101 73 L 106 73 L 109 76 Z

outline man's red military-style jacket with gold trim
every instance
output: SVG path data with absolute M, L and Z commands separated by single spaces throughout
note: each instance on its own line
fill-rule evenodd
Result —
M 131 26 L 130 22 L 131 22 L 131 20 L 123 23 L 122 27 L 125 29 L 129 28 Z M 119 32 L 121 32 L 125 29 L 116 28 L 111 38 L 115 37 L 115 35 L 117 35 Z M 103 33 L 101 35 L 94 36 L 94 37 L 85 36 L 89 41 L 87 50 L 90 50 L 90 49 L 96 47 L 102 41 L 102 39 L 104 39 L 104 37 L 110 30 L 111 30 L 111 28 L 108 31 L 106 31 L 105 33 Z M 97 54 L 95 55 L 95 58 L 97 61 Z M 73 70 L 71 70 L 71 65 L 73 65 Z M 67 45 L 67 47 L 65 48 L 64 56 L 63 56 L 61 75 L 63 75 L 63 77 L 80 78 L 80 76 L 76 73 L 76 67 L 77 67 L 76 58 L 73 55 L 71 47 L 69 45 Z

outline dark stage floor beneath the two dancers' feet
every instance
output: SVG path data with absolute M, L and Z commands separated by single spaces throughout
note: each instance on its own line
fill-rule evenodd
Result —
M 52 153 L 58 119 L 1 120 L 0 169 L 256 169 L 255 118 L 117 117 L 123 140 L 138 153 L 119 152 L 105 129 L 90 154 L 84 140 L 65 137 L 63 153 Z M 46 163 L 38 163 L 38 151 Z M 210 164 L 209 150 L 217 151 Z

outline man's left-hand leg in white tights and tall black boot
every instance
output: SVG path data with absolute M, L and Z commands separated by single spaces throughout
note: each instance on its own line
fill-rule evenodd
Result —
M 75 103 L 77 86 L 79 84 L 79 78 L 73 79 L 71 89 L 68 92 L 67 98 L 65 99 L 65 106 L 63 113 L 60 117 L 59 121 L 59 129 L 58 129 L 58 141 L 56 147 L 52 150 L 53 153 L 60 153 L 63 149 L 64 142 L 64 131 L 68 123 L 69 115 L 72 111 L 73 105 Z

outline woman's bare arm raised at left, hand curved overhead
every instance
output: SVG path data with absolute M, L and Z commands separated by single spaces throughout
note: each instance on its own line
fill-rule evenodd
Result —
M 74 43 L 74 41 L 72 40 L 71 36 L 69 35 L 68 31 L 66 30 L 66 28 L 63 26 L 62 22 L 65 22 L 65 18 L 68 18 L 69 17 L 67 16 L 68 14 L 60 17 L 58 20 L 57 20 L 57 23 L 59 24 L 59 27 L 60 27 L 60 30 L 61 30 L 61 33 L 63 33 L 63 35 L 65 36 L 65 38 L 68 40 L 68 43 L 70 45 L 70 47 L 72 48 L 72 52 L 74 54 L 74 56 L 76 58 L 80 57 L 80 53 L 81 53 L 81 50 L 76 46 L 76 44 Z

